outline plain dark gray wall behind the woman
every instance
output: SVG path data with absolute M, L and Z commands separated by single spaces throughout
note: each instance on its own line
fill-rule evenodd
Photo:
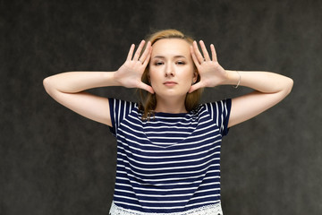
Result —
M 116 146 L 55 103 L 42 80 L 113 71 L 150 30 L 214 43 L 226 69 L 292 77 L 287 99 L 233 127 L 222 148 L 226 215 L 322 213 L 321 1 L 0 1 L 0 214 L 107 214 Z M 208 89 L 204 101 L 248 91 Z M 133 90 L 92 90 L 133 100 Z

